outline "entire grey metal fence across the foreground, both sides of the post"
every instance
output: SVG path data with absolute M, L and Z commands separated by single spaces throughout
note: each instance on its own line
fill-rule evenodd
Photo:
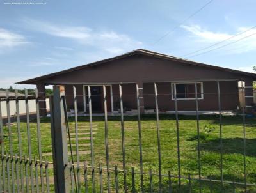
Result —
M 208 93 L 218 99 L 218 114 L 206 117 L 199 112 L 197 82 L 194 83 L 195 116 L 191 118 L 179 114 L 176 93 L 173 95 L 175 114 L 159 112 L 162 94 L 157 93 L 157 83 L 154 83 L 153 95 L 143 95 L 154 97 L 155 108 L 151 115 L 141 114 L 143 96 L 141 88 L 134 84 L 136 93 L 129 95 L 137 105 L 134 116 L 126 116 L 124 112 L 123 84 L 118 84 L 120 112 L 115 116 L 108 113 L 104 85 L 103 116 L 93 116 L 90 86 L 87 86 L 89 112 L 82 116 L 77 112 L 77 98 L 83 96 L 76 94 L 76 86 L 73 86 L 72 116 L 68 116 L 64 87 L 54 86 L 54 95 L 50 98 L 51 121 L 50 118 L 40 118 L 39 102 L 42 98 L 38 97 L 36 90 L 33 98 L 36 99 L 35 118 L 29 114 L 28 101 L 31 98 L 25 91 L 25 121 L 20 121 L 20 98 L 18 95 L 10 98 L 6 91 L 3 100 L 6 100 L 7 125 L 3 125 L 0 112 L 0 192 L 255 192 L 255 119 L 248 118 L 246 123 L 244 106 L 243 112 L 232 118 L 236 122 L 234 132 L 241 131 L 241 136 L 237 136 L 239 143 L 226 142 L 227 125 L 231 125 L 228 129 L 233 129 L 233 126 L 230 118 L 221 114 L 223 93 L 220 92 L 220 82 L 216 81 L 217 93 Z M 8 110 L 10 100 L 17 104 L 15 121 L 11 121 Z M 202 124 L 212 118 L 214 126 L 208 130 L 214 132 L 216 139 L 212 144 L 218 144 L 218 147 L 210 143 L 207 147 L 209 153 L 205 153 Z M 250 127 L 248 134 L 246 127 Z M 236 149 L 241 151 L 237 153 Z M 234 152 L 234 157 L 226 157 L 229 151 Z M 213 168 L 215 166 L 218 173 Z

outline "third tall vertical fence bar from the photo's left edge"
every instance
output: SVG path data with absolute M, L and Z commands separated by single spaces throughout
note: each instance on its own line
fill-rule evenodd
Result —
M 17 134 L 18 134 L 18 143 L 19 143 L 19 158 L 20 158 L 20 184 L 21 192 L 24 192 L 24 176 L 23 176 L 23 164 L 22 164 L 22 140 L 20 134 L 20 108 L 19 108 L 19 93 L 15 89 L 15 105 L 16 105 L 16 114 L 17 114 Z

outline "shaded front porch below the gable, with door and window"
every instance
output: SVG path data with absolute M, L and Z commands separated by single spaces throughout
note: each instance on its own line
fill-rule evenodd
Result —
M 78 115 L 81 116 L 89 115 L 89 102 L 91 102 L 93 116 L 104 115 L 104 98 L 106 98 L 106 109 L 109 116 L 120 114 L 120 98 L 122 98 L 124 114 L 134 116 L 138 114 L 138 103 L 141 113 L 154 114 L 156 96 L 161 114 L 175 113 L 175 101 L 179 114 L 196 114 L 195 100 L 198 100 L 198 114 L 216 114 L 220 109 L 225 114 L 241 113 L 243 107 L 250 112 L 250 108 L 254 104 L 252 84 L 252 80 L 225 79 L 156 83 L 145 81 L 141 84 L 106 82 L 102 84 L 66 84 L 64 87 L 70 116 L 75 111 L 75 98 L 76 109 Z M 89 89 L 90 93 L 88 93 Z

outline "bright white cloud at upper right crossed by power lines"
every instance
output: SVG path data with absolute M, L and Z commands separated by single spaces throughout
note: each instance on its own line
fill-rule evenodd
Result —
M 223 49 L 220 49 L 221 54 L 223 53 L 224 54 L 241 54 L 241 53 L 249 52 L 251 50 L 256 49 L 256 28 L 250 31 L 246 31 L 250 29 L 250 27 L 239 27 L 236 29 L 234 33 L 220 33 L 216 31 L 209 31 L 207 29 L 203 29 L 198 25 L 191 25 L 191 26 L 183 25 L 181 27 L 189 32 L 189 37 L 193 38 L 193 40 L 195 40 L 196 43 L 202 43 L 203 47 L 207 45 L 211 45 L 211 43 L 220 42 L 227 38 L 230 38 L 230 40 L 220 43 L 216 45 L 216 47 L 220 47 L 221 45 L 225 45 L 230 42 L 235 42 L 241 38 L 244 38 L 244 40 L 238 41 L 236 43 L 232 43 L 227 47 L 225 48 L 223 47 Z M 237 33 L 242 33 L 244 31 L 246 32 L 243 33 L 242 35 L 231 38 Z M 246 36 L 250 36 L 250 37 L 245 38 Z M 210 50 L 214 48 L 215 47 L 211 47 Z M 225 52 L 223 52 L 223 50 L 225 50 Z

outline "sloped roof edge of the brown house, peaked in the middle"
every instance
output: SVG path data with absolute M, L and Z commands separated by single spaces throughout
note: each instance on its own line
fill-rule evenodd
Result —
M 104 64 L 104 63 L 107 63 L 108 61 L 113 61 L 113 60 L 116 60 L 116 59 L 126 58 L 128 56 L 133 56 L 133 55 L 136 55 L 136 54 L 142 54 L 142 55 L 145 55 L 145 56 L 152 56 L 152 57 L 156 57 L 156 58 L 163 58 L 163 59 L 168 59 L 168 60 L 172 60 L 172 61 L 179 61 L 179 62 L 182 62 L 182 63 L 187 63 L 189 65 L 196 65 L 196 66 L 202 66 L 202 67 L 206 67 L 206 68 L 212 68 L 214 70 L 221 70 L 221 71 L 226 71 L 226 72 L 238 73 L 238 74 L 246 75 L 246 76 L 249 76 L 249 77 L 256 77 L 255 73 L 243 72 L 243 71 L 240 71 L 240 70 L 233 70 L 233 69 L 230 69 L 230 68 L 223 68 L 223 67 L 220 67 L 220 66 L 207 65 L 207 64 L 204 64 L 204 63 L 198 63 L 198 62 L 195 62 L 195 61 L 190 61 L 188 59 L 177 58 L 177 57 L 174 57 L 174 56 L 169 56 L 169 55 L 161 54 L 161 53 L 158 53 L 158 52 L 152 52 L 150 50 L 137 49 L 137 50 L 133 50 L 132 52 L 127 52 L 125 54 L 115 56 L 113 58 L 103 59 L 103 60 L 96 61 L 96 62 L 93 62 L 93 63 L 89 63 L 89 64 L 86 64 L 86 65 L 76 66 L 74 68 L 69 68 L 67 70 L 62 70 L 60 72 L 49 73 L 47 75 L 42 75 L 40 77 L 35 77 L 33 79 L 28 79 L 26 81 L 20 81 L 20 82 L 17 82 L 17 84 L 35 84 L 35 82 L 43 81 L 44 79 L 54 77 L 56 75 L 61 75 L 63 73 L 68 73 L 68 72 L 72 72 L 72 71 L 75 71 L 75 70 L 81 70 L 81 69 L 89 67 L 89 66 Z

